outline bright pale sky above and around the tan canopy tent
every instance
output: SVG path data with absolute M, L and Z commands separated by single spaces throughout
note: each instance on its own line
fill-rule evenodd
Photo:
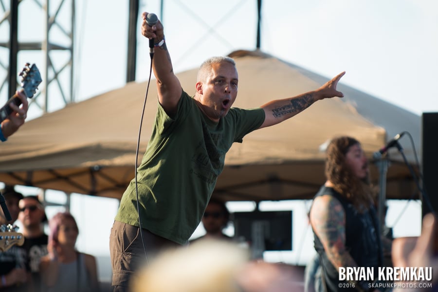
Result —
M 27 2 L 20 5 L 32 5 Z M 141 2 L 141 12 L 154 12 L 164 23 L 176 73 L 198 67 L 212 55 L 256 49 L 256 0 L 164 0 L 163 18 L 161 1 Z M 80 101 L 125 85 L 128 1 L 76 4 L 74 84 Z M 261 17 L 263 52 L 328 78 L 346 71 L 341 83 L 416 114 L 438 112 L 438 1 L 265 0 Z M 20 33 L 31 34 L 28 29 Z M 140 30 L 137 35 L 137 81 L 145 81 L 148 41 Z M 42 33 L 31 38 L 38 37 Z M 72 211 L 87 229 L 108 229 L 109 234 L 116 202 L 96 200 L 74 199 Z M 108 218 L 89 216 L 97 208 L 108 210 Z M 414 209 L 418 212 L 418 206 Z M 95 241 L 89 236 L 79 248 L 97 252 L 108 246 Z

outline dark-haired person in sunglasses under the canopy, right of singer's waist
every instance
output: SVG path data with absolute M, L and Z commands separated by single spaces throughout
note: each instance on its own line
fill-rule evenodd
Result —
M 205 235 L 195 238 L 191 242 L 193 243 L 205 238 L 231 240 L 233 237 L 229 237 L 223 233 L 223 229 L 227 227 L 229 219 L 230 212 L 225 203 L 217 199 L 211 199 L 202 216 L 202 225 L 205 229 Z

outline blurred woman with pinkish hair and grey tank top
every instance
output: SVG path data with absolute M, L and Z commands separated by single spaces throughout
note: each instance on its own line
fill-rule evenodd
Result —
M 40 263 L 42 291 L 99 291 L 96 259 L 75 248 L 79 230 L 73 216 L 57 213 L 50 219 L 49 228 L 49 254 Z

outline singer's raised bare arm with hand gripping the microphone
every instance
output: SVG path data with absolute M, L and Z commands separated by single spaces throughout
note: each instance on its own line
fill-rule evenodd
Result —
M 178 101 L 181 98 L 181 83 L 173 72 L 167 45 L 164 40 L 164 28 L 160 20 L 149 26 L 146 23 L 147 12 L 142 15 L 142 35 L 154 38 L 156 47 L 152 59 L 152 69 L 157 79 L 158 100 L 165 112 L 172 116 L 176 113 Z

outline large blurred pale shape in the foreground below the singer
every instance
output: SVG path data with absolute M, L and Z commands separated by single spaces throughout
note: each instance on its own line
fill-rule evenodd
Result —
M 286 265 L 249 261 L 247 249 L 205 239 L 158 255 L 137 274 L 131 291 L 289 292 L 298 281 Z

